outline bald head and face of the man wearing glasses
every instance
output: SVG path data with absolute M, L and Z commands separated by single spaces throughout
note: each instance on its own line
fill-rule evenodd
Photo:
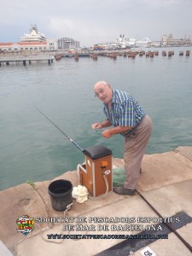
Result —
M 104 103 L 112 101 L 112 89 L 109 84 L 97 83 L 94 87 L 95 95 Z

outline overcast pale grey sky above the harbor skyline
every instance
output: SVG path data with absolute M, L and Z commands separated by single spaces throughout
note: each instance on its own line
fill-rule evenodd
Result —
M 0 42 L 20 42 L 32 25 L 80 46 L 127 38 L 192 39 L 192 0 L 0 0 Z

